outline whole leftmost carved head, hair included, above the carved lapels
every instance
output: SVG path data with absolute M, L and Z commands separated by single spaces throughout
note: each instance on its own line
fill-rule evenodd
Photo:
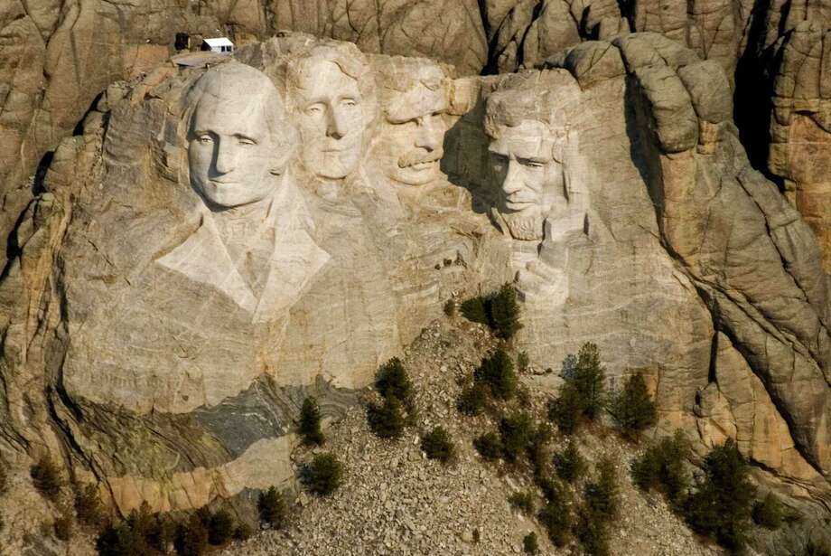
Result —
M 188 94 L 191 185 L 212 210 L 271 197 L 295 142 L 274 84 L 247 65 L 211 68 Z

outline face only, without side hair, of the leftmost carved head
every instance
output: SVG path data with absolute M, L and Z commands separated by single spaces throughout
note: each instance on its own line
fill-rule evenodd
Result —
M 208 84 L 191 118 L 191 184 L 212 208 L 257 203 L 274 192 L 276 148 L 265 113 L 273 103 L 259 97 L 276 90 L 257 83 L 246 97 L 240 95 L 244 83 L 229 87 L 227 77 L 210 74 L 202 79 L 213 79 L 216 86 Z

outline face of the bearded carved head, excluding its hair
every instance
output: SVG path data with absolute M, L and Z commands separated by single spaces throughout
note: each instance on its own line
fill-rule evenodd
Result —
M 565 203 L 562 167 L 546 124 L 522 120 L 497 126 L 490 141 L 491 170 L 500 187 L 498 210 L 517 240 L 541 240 L 552 205 Z

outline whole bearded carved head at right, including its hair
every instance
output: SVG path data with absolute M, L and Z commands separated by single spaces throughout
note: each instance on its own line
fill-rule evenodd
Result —
M 568 203 L 565 111 L 540 76 L 517 76 L 486 104 L 491 171 L 499 188 L 496 220 L 516 240 L 541 240 L 546 217 Z

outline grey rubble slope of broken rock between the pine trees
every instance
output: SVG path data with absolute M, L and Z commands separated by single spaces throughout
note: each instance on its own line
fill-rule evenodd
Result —
M 490 464 L 473 449 L 472 439 L 491 430 L 488 417 L 465 417 L 456 409 L 462 390 L 483 354 L 495 346 L 490 332 L 462 317 L 442 319 L 425 328 L 405 352 L 404 362 L 416 391 L 416 426 L 404 438 L 383 440 L 368 428 L 362 407 L 350 410 L 329 429 L 322 448 L 297 448 L 296 468 L 313 454 L 331 452 L 346 466 L 343 485 L 333 495 L 318 497 L 300 491 L 285 531 L 259 533 L 234 545 L 223 556 L 275 554 L 514 554 L 522 539 L 537 532 L 541 554 L 568 554 L 547 540 L 537 520 L 511 507 L 511 494 L 535 490 L 528 470 L 500 462 Z M 548 396 L 538 390 L 545 374 L 522 375 L 528 388 L 528 411 L 545 419 Z M 550 375 L 547 375 L 550 379 Z M 458 458 L 443 466 L 427 459 L 420 435 L 441 425 L 449 430 Z M 629 466 L 638 447 L 598 427 L 577 440 L 593 465 L 613 457 L 621 485 L 621 519 L 612 525 L 612 554 L 705 556 L 723 551 L 707 546 L 670 512 L 656 495 L 644 495 L 631 483 Z M 565 446 L 556 437 L 551 449 Z M 290 495 L 291 498 L 291 495 Z M 575 500 L 580 499 L 579 491 Z M 542 501 L 537 495 L 537 508 Z M 474 541 L 478 529 L 480 540 Z

